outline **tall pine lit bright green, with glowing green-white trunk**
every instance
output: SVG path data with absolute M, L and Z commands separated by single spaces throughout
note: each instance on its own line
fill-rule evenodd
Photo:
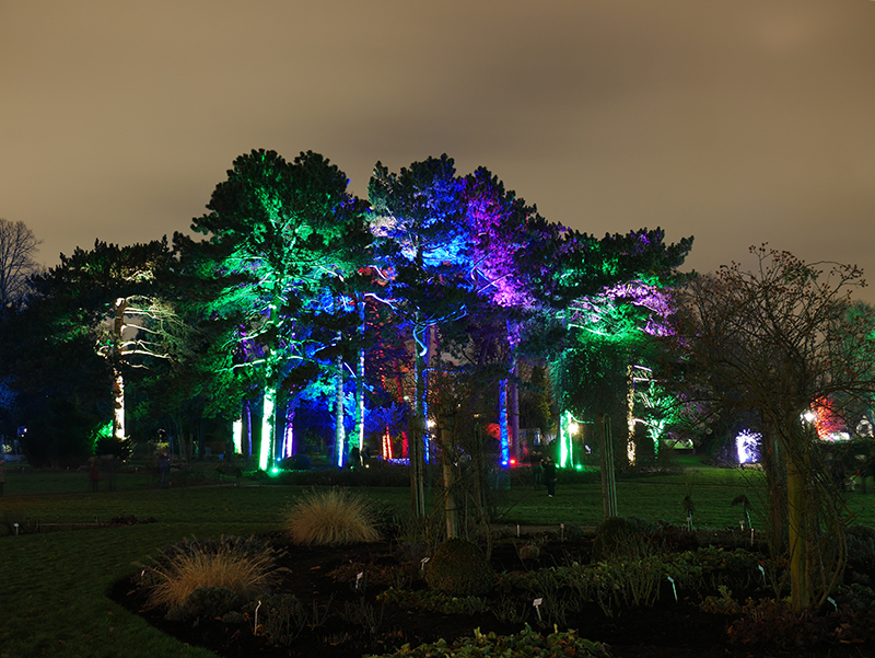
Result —
M 283 381 L 326 347 L 314 337 L 324 327 L 319 318 L 334 314 L 326 312 L 324 292 L 329 281 L 357 270 L 370 243 L 365 205 L 347 183 L 336 165 L 311 151 L 292 163 L 275 151 L 253 151 L 234 161 L 212 194 L 210 212 L 192 223 L 210 235 L 211 274 L 225 284 L 210 300 L 208 316 L 235 325 L 222 346 L 223 368 L 250 371 L 262 390 L 262 469 L 277 454 Z M 341 366 L 335 362 L 338 376 Z

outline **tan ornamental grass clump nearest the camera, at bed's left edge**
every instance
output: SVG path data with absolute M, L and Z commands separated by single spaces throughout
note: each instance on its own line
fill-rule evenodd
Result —
M 279 575 L 275 555 L 255 538 L 191 538 L 173 544 L 147 569 L 148 604 L 186 610 L 186 600 L 199 588 L 228 588 L 248 601 L 267 591 Z

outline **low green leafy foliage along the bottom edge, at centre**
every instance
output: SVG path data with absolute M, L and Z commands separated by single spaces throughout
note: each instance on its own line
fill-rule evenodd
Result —
M 517 635 L 483 635 L 479 628 L 474 637 L 463 637 L 448 644 L 439 639 L 434 644 L 418 647 L 402 646 L 394 654 L 382 654 L 369 658 L 487 658 L 506 656 L 508 658 L 553 658 L 556 656 L 578 656 L 579 658 L 609 658 L 607 645 L 590 642 L 578 636 L 576 631 L 549 634 L 547 637 L 533 631 L 528 625 Z

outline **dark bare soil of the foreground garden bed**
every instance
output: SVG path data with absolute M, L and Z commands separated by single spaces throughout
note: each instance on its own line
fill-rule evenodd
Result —
M 116 584 L 110 597 L 180 642 L 203 646 L 230 658 L 359 658 L 369 654 L 390 653 L 404 644 L 416 646 L 440 638 L 451 642 L 470 636 L 475 628 L 503 635 L 518 633 L 523 628 L 522 623 L 502 623 L 492 613 L 441 614 L 381 605 L 375 597 L 389 586 L 389 580 L 406 580 L 406 589 L 425 588 L 419 570 L 419 556 L 412 552 L 405 555 L 397 546 L 381 543 L 339 549 L 287 550 L 288 555 L 283 558 L 282 566 L 289 573 L 281 590 L 298 597 L 308 610 L 312 610 L 315 602 L 325 617 L 324 623 L 313 630 L 302 628 L 301 634 L 289 646 L 275 646 L 264 636 L 255 636 L 252 619 L 243 624 L 225 624 L 219 619 L 167 621 L 164 619 L 165 611 L 143 608 L 144 596 L 138 587 L 138 578 Z M 571 561 L 586 563 L 591 554 L 591 541 L 559 542 L 557 538 L 556 541 L 544 544 L 537 561 L 524 563 L 518 556 L 516 542 L 505 540 L 494 547 L 492 563 L 497 573 L 502 573 L 562 565 Z M 359 581 L 360 587 L 357 589 L 355 577 L 362 572 L 365 577 Z M 568 627 L 576 628 L 582 637 L 608 644 L 615 658 L 875 656 L 875 646 L 870 644 L 871 640 L 864 644 L 830 642 L 788 648 L 762 644 L 732 644 L 727 628 L 736 617 L 700 611 L 697 604 L 707 593 L 715 592 L 696 592 L 689 597 L 681 592 L 680 600 L 675 602 L 669 589 L 662 593 L 655 607 L 625 611 L 614 619 L 607 619 L 597 605 L 592 604 L 582 615 L 570 616 Z M 734 592 L 734 596 L 744 600 L 745 593 Z M 362 609 L 376 612 L 376 621 L 369 624 L 372 627 L 363 627 L 361 617 L 357 617 L 355 611 Z M 552 632 L 552 625 L 542 627 L 534 614 L 529 614 L 526 623 L 544 633 Z

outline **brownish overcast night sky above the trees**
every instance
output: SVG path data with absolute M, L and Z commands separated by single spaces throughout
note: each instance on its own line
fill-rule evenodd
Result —
M 0 0 L 0 217 L 188 231 L 234 158 L 485 165 L 552 221 L 875 284 L 872 0 Z M 875 286 L 864 299 L 875 301 Z

